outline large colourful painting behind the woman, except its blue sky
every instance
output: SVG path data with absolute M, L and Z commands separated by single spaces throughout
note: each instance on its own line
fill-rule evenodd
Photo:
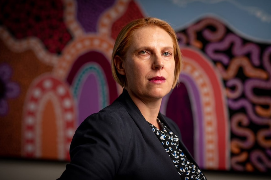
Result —
M 0 157 L 69 161 L 79 124 L 122 92 L 111 75 L 114 40 L 151 15 L 146 2 L 0 1 Z M 157 17 L 171 13 L 181 21 L 174 11 Z M 268 14 L 253 15 L 270 26 Z M 202 169 L 271 173 L 271 41 L 215 14 L 183 24 L 173 25 L 180 85 L 161 112 Z

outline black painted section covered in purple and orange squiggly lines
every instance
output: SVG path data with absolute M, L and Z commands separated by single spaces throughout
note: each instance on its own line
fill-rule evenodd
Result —
M 242 39 L 220 24 L 212 18 L 199 21 L 186 34 L 177 33 L 179 44 L 204 50 L 224 80 L 231 110 L 232 169 L 270 172 L 271 46 Z M 216 38 L 209 37 L 214 34 Z

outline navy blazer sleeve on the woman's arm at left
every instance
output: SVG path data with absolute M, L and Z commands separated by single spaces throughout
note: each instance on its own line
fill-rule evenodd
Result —
M 113 179 L 122 158 L 123 133 L 113 114 L 96 113 L 82 122 L 70 146 L 71 162 L 60 180 Z

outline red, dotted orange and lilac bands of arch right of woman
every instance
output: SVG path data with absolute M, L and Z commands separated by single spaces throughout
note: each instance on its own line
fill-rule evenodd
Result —
M 200 167 L 228 170 L 230 126 L 221 78 L 202 53 L 191 48 L 183 48 L 181 52 L 180 81 L 187 88 L 193 112 L 194 157 Z M 164 112 L 171 94 L 162 102 Z

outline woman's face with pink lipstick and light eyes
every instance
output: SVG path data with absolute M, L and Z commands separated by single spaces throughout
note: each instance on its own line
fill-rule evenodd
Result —
M 123 62 L 126 90 L 141 100 L 161 99 L 174 81 L 174 48 L 170 35 L 159 27 L 133 33 Z

